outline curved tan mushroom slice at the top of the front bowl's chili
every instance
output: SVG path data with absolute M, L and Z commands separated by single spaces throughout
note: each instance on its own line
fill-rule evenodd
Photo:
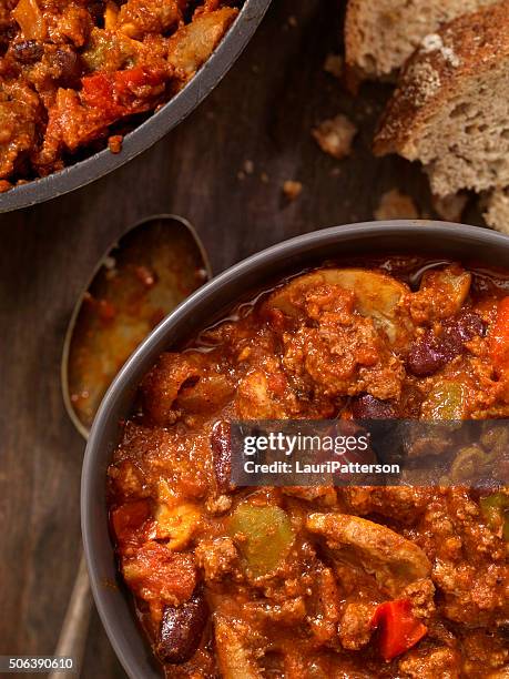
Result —
M 367 268 L 322 268 L 304 274 L 276 290 L 267 300 L 267 305 L 288 316 L 296 316 L 303 294 L 319 285 L 338 285 L 354 291 L 356 310 L 363 316 L 373 318 L 375 325 L 386 332 L 391 344 L 405 331 L 406 323 L 398 323 L 398 312 L 409 288 L 385 273 Z

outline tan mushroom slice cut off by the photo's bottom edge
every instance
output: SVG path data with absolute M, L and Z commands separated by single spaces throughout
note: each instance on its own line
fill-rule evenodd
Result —
M 215 647 L 221 676 L 223 679 L 262 679 L 253 653 L 243 641 L 250 638 L 250 630 L 241 634 L 238 627 L 238 622 L 215 616 Z

